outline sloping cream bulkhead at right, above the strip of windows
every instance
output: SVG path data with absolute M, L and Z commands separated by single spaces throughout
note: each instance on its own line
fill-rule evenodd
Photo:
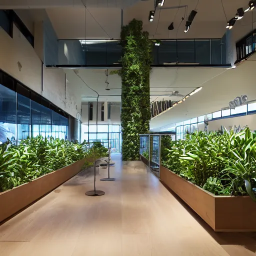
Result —
M 218 111 L 242 94 L 246 94 L 249 101 L 256 99 L 255 59 L 255 55 L 252 55 L 236 68 L 227 69 L 208 80 L 201 85 L 202 89 L 199 92 L 152 119 L 150 129 L 166 130 L 166 127 L 171 127 L 176 122 Z

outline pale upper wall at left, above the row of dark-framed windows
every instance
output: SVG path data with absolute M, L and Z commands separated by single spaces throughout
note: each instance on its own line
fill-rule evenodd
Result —
M 81 109 L 80 90 L 75 84 L 67 84 L 65 89 L 63 70 L 43 68 L 42 86 L 42 62 L 15 25 L 13 38 L 0 27 L 0 45 L 0 69 L 76 117 Z M 22 66 L 20 71 L 18 62 Z

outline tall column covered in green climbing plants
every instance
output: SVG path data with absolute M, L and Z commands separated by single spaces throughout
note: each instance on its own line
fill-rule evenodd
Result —
M 139 133 L 147 133 L 150 120 L 149 75 L 152 42 L 142 31 L 142 21 L 133 19 L 121 29 L 121 127 L 122 158 L 139 158 Z

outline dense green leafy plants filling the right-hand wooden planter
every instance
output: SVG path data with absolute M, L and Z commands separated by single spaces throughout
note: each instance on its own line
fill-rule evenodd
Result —
M 162 164 L 214 194 L 249 195 L 256 201 L 256 133 L 194 132 L 172 141 Z

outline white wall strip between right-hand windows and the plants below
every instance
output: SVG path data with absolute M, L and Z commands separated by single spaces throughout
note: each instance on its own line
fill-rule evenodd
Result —
M 221 125 L 227 129 L 234 128 L 234 125 L 236 127 L 240 125 L 241 128 L 247 125 L 251 130 L 256 130 L 256 114 L 208 121 L 207 130 L 221 130 Z

